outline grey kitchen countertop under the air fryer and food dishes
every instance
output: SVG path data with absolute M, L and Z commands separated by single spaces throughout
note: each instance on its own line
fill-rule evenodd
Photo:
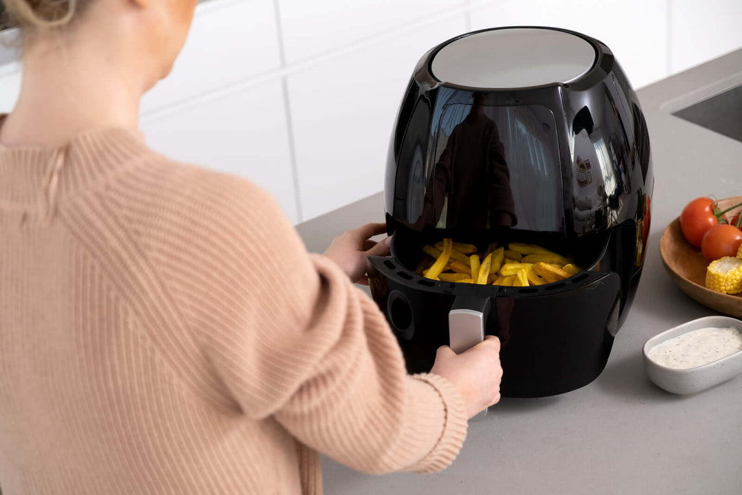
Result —
M 649 252 L 600 377 L 560 396 L 502 399 L 484 421 L 469 425 L 459 457 L 440 473 L 371 476 L 324 458 L 325 493 L 740 494 L 742 377 L 674 396 L 649 381 L 642 361 L 651 336 L 715 314 L 670 281 L 659 253 L 663 229 L 694 197 L 742 194 L 742 142 L 671 113 L 740 83 L 737 50 L 637 91 L 654 163 Z M 310 250 L 321 252 L 335 235 L 368 221 L 384 221 L 381 193 L 298 230 Z

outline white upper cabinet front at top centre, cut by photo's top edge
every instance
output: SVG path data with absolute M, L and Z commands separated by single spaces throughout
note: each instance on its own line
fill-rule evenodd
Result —
M 466 0 L 276 0 L 286 62 L 326 53 L 463 8 Z

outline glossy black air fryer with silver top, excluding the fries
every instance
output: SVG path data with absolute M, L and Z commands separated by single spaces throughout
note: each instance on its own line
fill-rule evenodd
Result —
M 603 43 L 502 27 L 418 62 L 387 162 L 387 258 L 372 295 L 410 373 L 497 335 L 506 397 L 565 393 L 603 371 L 642 271 L 654 180 L 639 101 Z M 430 280 L 425 244 L 534 243 L 584 271 L 510 287 Z

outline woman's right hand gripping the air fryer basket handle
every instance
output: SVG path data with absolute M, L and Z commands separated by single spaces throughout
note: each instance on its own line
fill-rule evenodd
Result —
M 473 418 L 479 411 L 500 400 L 500 341 L 494 335 L 461 354 L 448 346 L 441 346 L 430 373 L 447 378 L 459 389 L 464 399 L 467 416 Z

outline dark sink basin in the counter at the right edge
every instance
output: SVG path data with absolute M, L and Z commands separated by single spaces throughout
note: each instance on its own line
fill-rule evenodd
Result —
M 673 115 L 742 142 L 742 85 L 675 111 Z

